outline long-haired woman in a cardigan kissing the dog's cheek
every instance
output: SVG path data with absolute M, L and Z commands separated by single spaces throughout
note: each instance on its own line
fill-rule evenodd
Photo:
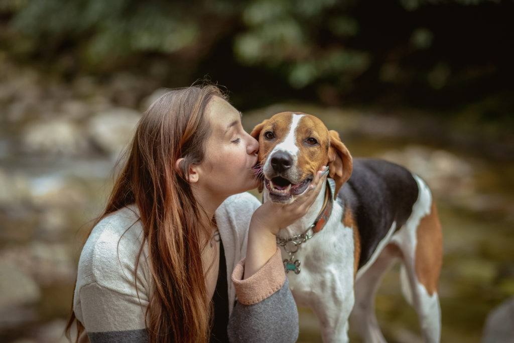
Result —
M 216 86 L 157 99 L 83 247 L 67 334 L 77 321 L 93 342 L 295 341 L 275 234 L 325 176 L 291 205 L 261 205 L 242 193 L 260 182 L 258 148 Z

